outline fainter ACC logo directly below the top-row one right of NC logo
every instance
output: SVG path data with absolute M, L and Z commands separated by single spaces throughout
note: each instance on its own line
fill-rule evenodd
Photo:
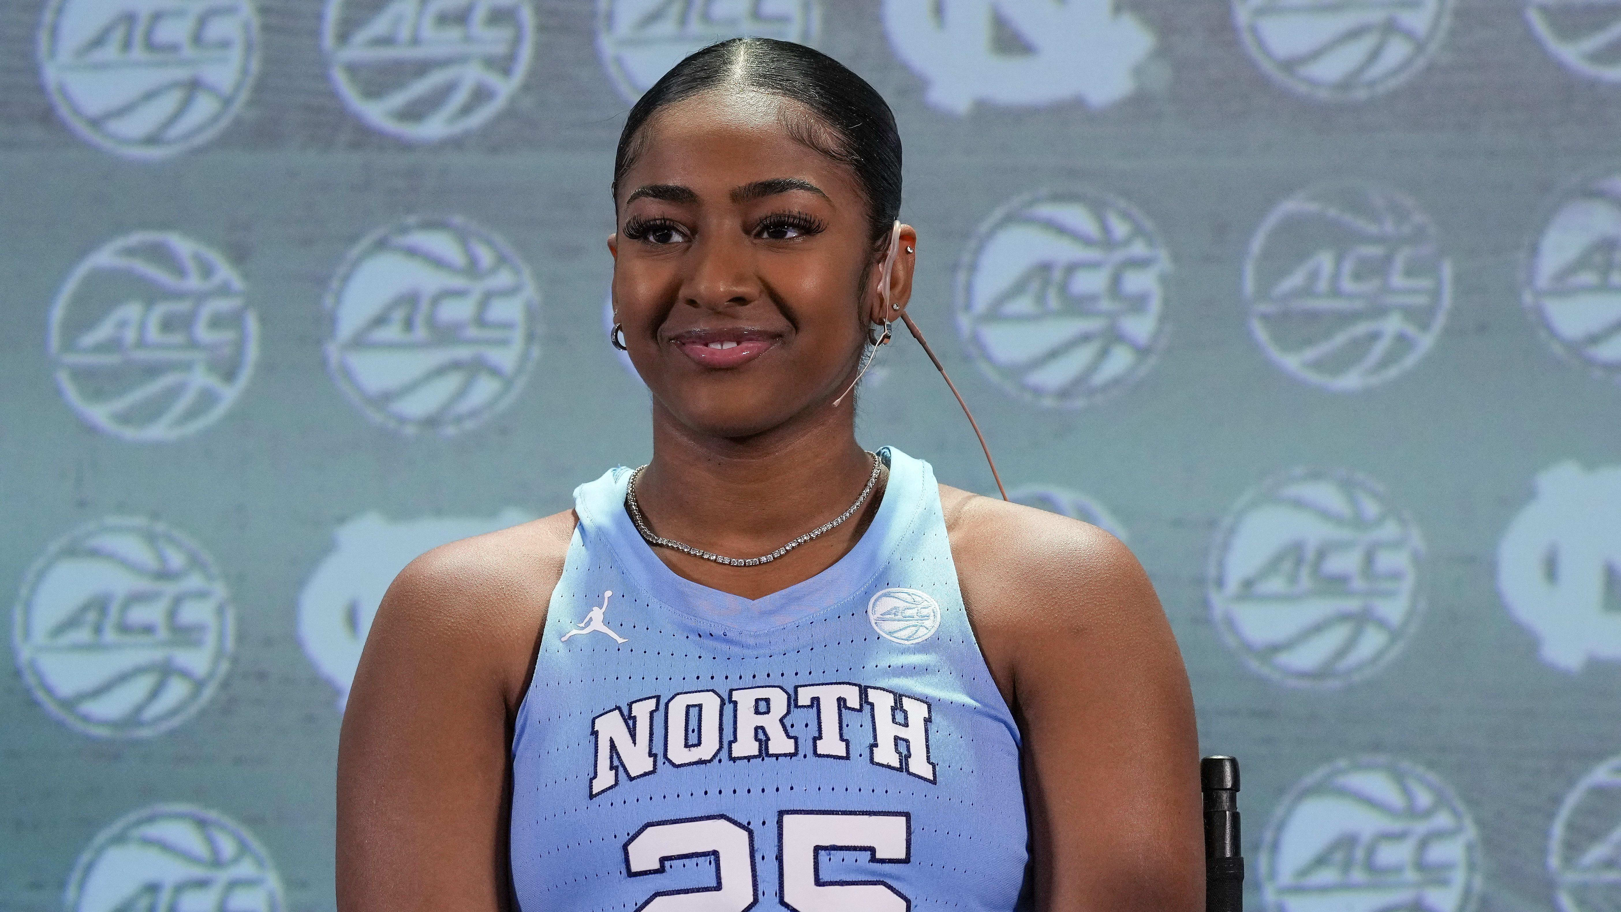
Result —
M 1323 183 L 1266 216 L 1243 263 L 1250 333 L 1297 380 L 1355 393 L 1405 373 L 1452 303 L 1452 261 L 1417 203 Z

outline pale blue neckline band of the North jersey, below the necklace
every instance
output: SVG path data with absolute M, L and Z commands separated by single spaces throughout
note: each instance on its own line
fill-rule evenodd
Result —
M 809 579 L 759 599 L 723 592 L 669 570 L 653 552 L 629 513 L 624 495 L 631 469 L 619 466 L 574 490 L 575 511 L 585 532 L 613 548 L 621 570 L 665 607 L 699 620 L 747 631 L 765 631 L 804 620 L 862 594 L 914 524 L 924 505 L 924 464 L 893 446 L 879 450 L 890 467 L 888 482 L 872 523 L 854 547 Z

